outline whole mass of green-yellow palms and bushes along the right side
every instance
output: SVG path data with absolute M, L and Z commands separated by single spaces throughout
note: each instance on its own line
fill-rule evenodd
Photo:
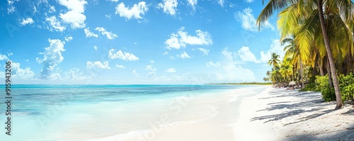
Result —
M 321 90 L 324 100 L 336 101 L 335 109 L 353 101 L 353 1 L 270 0 L 258 26 L 275 11 L 285 56 L 280 61 L 272 54 L 268 64 L 273 68 L 264 80 L 281 86 L 297 81 L 304 90 Z

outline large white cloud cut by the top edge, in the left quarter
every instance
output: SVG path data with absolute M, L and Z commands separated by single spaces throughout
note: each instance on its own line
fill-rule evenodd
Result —
M 69 11 L 67 13 L 60 13 L 59 17 L 65 23 L 69 23 L 70 26 L 75 28 L 85 28 L 86 16 L 84 15 L 85 0 L 59 0 L 59 4 L 66 6 Z

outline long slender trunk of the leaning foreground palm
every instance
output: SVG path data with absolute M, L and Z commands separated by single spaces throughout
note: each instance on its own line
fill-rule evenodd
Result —
M 337 73 L 336 73 L 336 66 L 334 65 L 334 60 L 333 60 L 332 51 L 331 51 L 331 47 L 330 47 L 331 44 L 329 44 L 329 37 L 327 35 L 326 25 L 324 23 L 324 11 L 322 8 L 322 1 L 323 0 L 317 1 L 317 4 L 318 4 L 317 6 L 319 9 L 319 21 L 321 23 L 321 29 L 322 29 L 322 33 L 324 35 L 324 45 L 326 46 L 327 54 L 329 56 L 329 67 L 331 67 L 333 86 L 334 86 L 334 91 L 336 92 L 336 102 L 337 102 L 336 108 L 334 108 L 334 109 L 337 110 L 343 106 L 343 101 L 341 98 L 341 90 L 339 89 L 338 78 L 337 78 Z

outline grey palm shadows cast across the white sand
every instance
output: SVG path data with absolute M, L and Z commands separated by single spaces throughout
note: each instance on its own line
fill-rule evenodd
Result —
M 333 109 L 324 109 L 324 106 L 333 105 L 331 102 L 325 102 L 322 100 L 321 94 L 319 92 L 301 92 L 297 90 L 280 90 L 275 89 L 270 91 L 270 96 L 260 99 L 267 99 L 267 98 L 280 98 L 280 97 L 289 97 L 296 96 L 297 98 L 301 98 L 301 101 L 280 101 L 274 103 L 268 103 L 268 107 L 265 107 L 259 111 L 274 111 L 286 108 L 287 110 L 278 113 L 278 114 L 270 114 L 270 115 L 263 115 L 258 116 L 255 118 L 251 118 L 253 120 L 263 120 L 264 123 L 268 123 L 270 121 L 282 120 L 283 118 L 291 117 L 292 115 L 298 115 L 302 113 L 312 113 L 307 115 L 306 117 L 300 117 L 298 119 L 293 120 L 291 123 L 285 123 L 284 126 L 291 125 L 294 123 L 301 123 L 303 121 L 317 118 L 321 115 L 326 115 L 327 113 L 331 113 L 334 111 Z M 344 115 L 353 115 L 354 110 L 350 109 L 349 111 L 343 111 Z M 334 121 L 335 122 L 335 121 Z M 324 137 L 316 137 L 316 135 L 310 134 L 302 134 L 302 135 L 295 135 L 292 137 L 288 137 L 286 140 L 353 140 L 354 141 L 354 124 L 350 125 L 350 128 L 346 128 L 346 130 L 341 131 L 333 131 L 338 132 L 332 136 L 324 136 Z

